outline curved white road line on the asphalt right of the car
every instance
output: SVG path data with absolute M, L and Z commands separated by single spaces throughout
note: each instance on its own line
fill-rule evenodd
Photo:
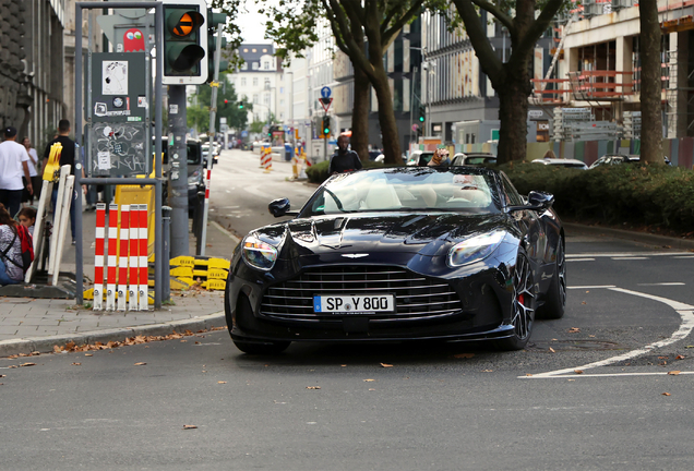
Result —
M 636 357 L 641 357 L 641 355 L 643 355 L 645 353 L 650 352 L 654 349 L 667 347 L 669 345 L 672 345 L 672 343 L 674 343 L 674 342 L 677 342 L 679 340 L 682 340 L 682 339 L 686 338 L 692 333 L 692 329 L 694 329 L 694 306 L 693 305 L 684 304 L 684 303 L 681 303 L 679 301 L 670 300 L 670 299 L 667 299 L 667 298 L 661 298 L 661 297 L 657 297 L 657 295 L 653 295 L 653 294 L 642 293 L 642 292 L 638 292 L 638 291 L 626 290 L 626 289 L 623 289 L 623 288 L 608 288 L 608 289 L 610 289 L 612 291 L 617 291 L 617 292 L 622 292 L 622 293 L 625 293 L 625 294 L 632 294 L 632 295 L 637 295 L 637 297 L 650 299 L 650 300 L 658 301 L 658 302 L 661 302 L 663 304 L 667 304 L 668 306 L 670 306 L 674 311 L 677 311 L 678 314 L 680 314 L 680 317 L 682 318 L 682 323 L 680 324 L 680 327 L 670 336 L 670 338 L 661 340 L 661 341 L 649 343 L 649 345 L 647 345 L 647 346 L 645 346 L 645 347 L 643 347 L 641 349 L 632 350 L 632 351 L 623 353 L 621 355 L 612 357 L 612 358 L 609 358 L 607 360 L 601 360 L 601 361 L 588 363 L 588 364 L 581 365 L 581 366 L 574 366 L 574 367 L 570 367 L 570 369 L 555 370 L 555 371 L 547 372 L 547 373 L 534 374 L 533 376 L 518 376 L 518 378 L 533 379 L 533 378 L 543 378 L 543 377 L 554 377 L 554 378 L 557 378 L 557 377 L 561 377 L 561 378 L 585 377 L 586 375 L 584 375 L 584 374 L 577 375 L 575 373 L 575 371 L 576 370 L 585 371 L 585 370 L 595 369 L 595 367 L 599 367 L 599 366 L 607 366 L 607 365 L 610 365 L 610 364 L 613 364 L 613 363 L 619 363 L 621 361 L 626 361 L 626 360 L 634 359 Z M 566 373 L 570 373 L 571 376 L 567 376 Z M 634 373 L 633 375 L 638 375 L 638 374 Z M 590 375 L 590 376 L 600 376 L 600 375 Z

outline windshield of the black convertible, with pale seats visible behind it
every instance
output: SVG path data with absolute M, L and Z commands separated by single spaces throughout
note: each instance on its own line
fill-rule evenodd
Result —
M 500 213 L 493 173 L 483 169 L 391 168 L 343 173 L 321 186 L 300 217 L 369 212 Z

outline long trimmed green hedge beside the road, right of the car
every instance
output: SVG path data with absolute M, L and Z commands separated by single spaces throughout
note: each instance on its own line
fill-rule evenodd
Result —
M 605 224 L 694 227 L 694 172 L 662 165 L 566 169 L 529 162 L 500 166 L 518 192 L 554 195 L 560 216 Z

